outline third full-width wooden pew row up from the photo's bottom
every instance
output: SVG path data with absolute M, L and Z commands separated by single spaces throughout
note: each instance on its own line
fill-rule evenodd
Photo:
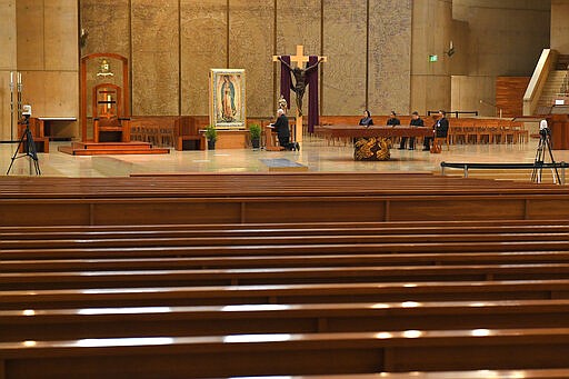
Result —
M 567 298 L 569 280 L 141 287 L 0 291 L 0 310 Z

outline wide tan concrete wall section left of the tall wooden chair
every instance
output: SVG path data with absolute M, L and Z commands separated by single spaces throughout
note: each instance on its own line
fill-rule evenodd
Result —
M 79 117 L 78 8 L 73 0 L 18 0 L 17 67 L 34 117 Z M 70 132 L 78 136 L 77 124 Z

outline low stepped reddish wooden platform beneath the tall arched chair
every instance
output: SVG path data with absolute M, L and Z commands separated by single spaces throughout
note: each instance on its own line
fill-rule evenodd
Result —
M 157 149 L 147 142 L 73 142 L 59 151 L 72 156 L 167 154 L 170 149 Z

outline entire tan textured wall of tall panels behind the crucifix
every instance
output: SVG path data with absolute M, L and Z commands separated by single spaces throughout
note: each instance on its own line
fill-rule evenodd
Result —
M 207 114 L 210 68 L 247 70 L 248 116 L 274 112 L 272 54 L 326 54 L 323 114 L 409 111 L 411 0 L 82 0 L 82 54 L 131 60 L 132 113 Z M 103 22 L 101 22 L 101 18 Z M 305 101 L 307 103 L 307 101 Z

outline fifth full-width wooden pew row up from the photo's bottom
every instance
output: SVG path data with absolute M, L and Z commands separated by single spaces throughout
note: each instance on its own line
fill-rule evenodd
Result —
M 3 260 L 1 272 L 568 263 L 569 251 Z

